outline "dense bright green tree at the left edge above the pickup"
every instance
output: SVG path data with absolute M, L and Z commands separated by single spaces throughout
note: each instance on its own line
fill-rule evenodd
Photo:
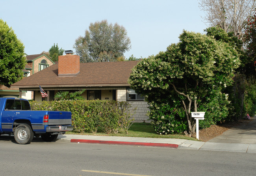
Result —
M 23 78 L 24 45 L 13 29 L 0 19 L 0 85 L 10 87 Z

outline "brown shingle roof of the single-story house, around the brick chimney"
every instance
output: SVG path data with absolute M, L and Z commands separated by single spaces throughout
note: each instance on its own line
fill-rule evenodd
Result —
M 11 85 L 13 88 L 129 86 L 127 80 L 139 61 L 80 63 L 74 76 L 58 76 L 58 64 Z

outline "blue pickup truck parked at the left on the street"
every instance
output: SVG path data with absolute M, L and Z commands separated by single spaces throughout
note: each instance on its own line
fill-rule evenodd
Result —
M 28 144 L 33 137 L 51 142 L 58 134 L 72 131 L 71 112 L 31 111 L 28 100 L 0 98 L 0 135 L 14 134 L 19 144 Z

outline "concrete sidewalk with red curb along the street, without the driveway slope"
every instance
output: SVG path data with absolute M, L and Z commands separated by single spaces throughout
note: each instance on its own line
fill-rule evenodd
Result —
M 99 143 L 99 144 L 118 144 L 134 146 L 154 146 L 170 147 L 178 149 L 194 150 L 215 150 L 215 151 L 235 151 L 256 153 L 256 144 L 245 143 L 216 143 L 200 142 L 184 139 L 163 139 L 163 138 L 131 138 L 118 136 L 88 136 L 63 134 L 58 136 L 59 140 L 68 140 L 73 143 Z

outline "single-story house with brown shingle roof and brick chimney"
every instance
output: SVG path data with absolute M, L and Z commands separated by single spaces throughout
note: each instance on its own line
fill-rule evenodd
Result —
M 134 114 L 136 122 L 149 122 L 146 113 L 148 104 L 144 98 L 130 89 L 127 80 L 138 61 L 80 63 L 78 55 L 59 56 L 54 64 L 39 73 L 11 85 L 22 91 L 33 91 L 33 100 L 54 100 L 59 91 L 79 91 L 87 100 L 116 100 L 132 102 L 137 107 Z M 42 98 L 39 85 L 48 94 Z

